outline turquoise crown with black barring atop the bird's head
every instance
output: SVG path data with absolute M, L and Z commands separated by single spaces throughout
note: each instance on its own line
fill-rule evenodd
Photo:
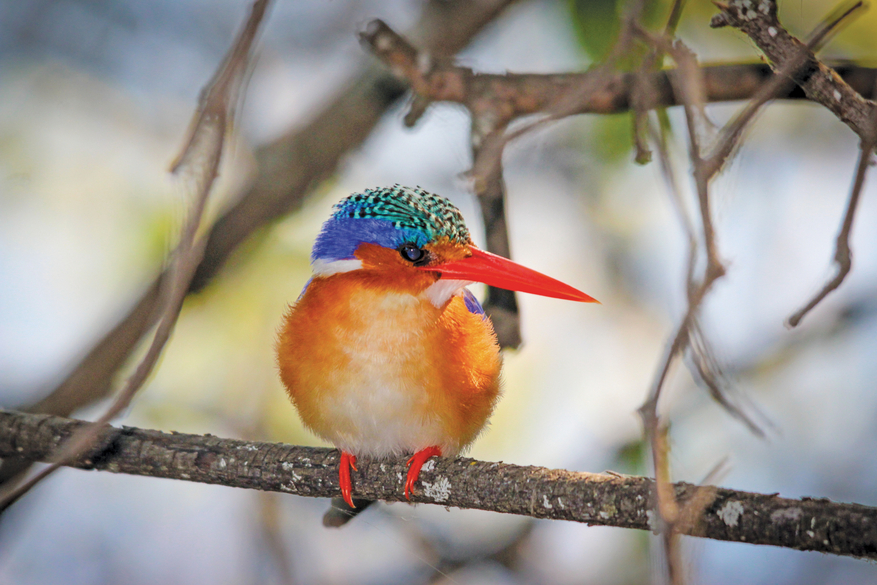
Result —
M 393 222 L 397 229 L 422 232 L 428 241 L 440 238 L 460 244 L 471 241 L 460 210 L 444 197 L 420 187 L 396 184 L 354 193 L 335 205 L 332 217 L 383 219 Z

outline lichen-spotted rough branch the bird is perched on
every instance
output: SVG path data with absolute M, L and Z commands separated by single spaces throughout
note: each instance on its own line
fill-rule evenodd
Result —
M 47 461 L 82 425 L 47 415 L 0 411 L 0 457 Z M 71 463 L 151 477 L 338 496 L 338 451 L 106 426 L 95 450 Z M 401 501 L 405 459 L 357 462 L 357 495 Z M 534 518 L 649 530 L 649 478 L 521 467 L 468 458 L 427 464 L 412 501 Z M 680 505 L 697 498 L 702 515 L 684 534 L 877 559 L 877 508 L 826 499 L 673 484 Z M 702 500 L 707 498 L 707 503 Z

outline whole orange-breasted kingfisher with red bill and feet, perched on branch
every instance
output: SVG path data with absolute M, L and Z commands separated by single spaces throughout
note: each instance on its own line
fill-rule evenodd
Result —
M 468 285 L 598 302 L 482 250 L 448 199 L 398 184 L 337 203 L 311 267 L 283 316 L 276 353 L 304 426 L 341 453 L 344 503 L 333 502 L 327 526 L 371 503 L 353 498 L 350 470 L 358 458 L 409 455 L 410 500 L 426 461 L 459 454 L 487 424 L 502 358 Z

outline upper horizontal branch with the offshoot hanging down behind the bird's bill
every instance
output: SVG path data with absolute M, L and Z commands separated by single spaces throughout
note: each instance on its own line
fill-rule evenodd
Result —
M 672 26 L 671 19 L 668 30 L 672 30 Z M 785 76 L 781 75 L 778 79 L 765 64 L 698 67 L 695 63 L 688 76 L 680 75 L 679 70 L 619 73 L 607 67 L 562 74 L 496 75 L 475 73 L 468 67 L 454 64 L 450 59 L 436 58 L 429 51 L 420 51 L 381 20 L 371 21 L 360 39 L 414 92 L 411 109 L 405 117 L 407 126 L 413 126 L 432 102 L 459 103 L 469 110 L 474 158 L 471 175 L 484 215 L 488 249 L 504 256 L 509 255 L 509 238 L 504 212 L 502 151 L 508 141 L 531 129 L 531 126 L 526 126 L 506 134 L 505 130 L 515 119 L 532 114 L 546 115 L 547 118 L 541 122 L 576 114 L 609 114 L 634 108 L 642 117 L 650 109 L 684 105 L 684 95 L 674 90 L 673 82 L 691 74 L 696 74 L 700 82 L 700 107 L 705 102 L 757 98 L 762 94 L 770 98 L 808 97 L 804 90 L 788 83 Z M 798 61 L 801 61 L 800 57 Z M 877 78 L 877 70 L 843 66 L 838 73 L 848 77 L 863 94 L 870 95 L 874 90 L 873 80 Z M 643 91 L 643 88 L 648 88 L 648 91 Z M 766 99 L 760 103 L 763 101 Z M 753 112 L 756 109 L 757 106 Z M 743 125 L 745 123 L 740 127 Z M 723 144 L 736 143 L 737 136 L 732 138 L 723 141 Z M 637 145 L 638 152 L 645 152 L 639 140 Z M 696 179 L 700 177 L 696 182 L 701 209 L 705 214 L 703 225 L 707 231 L 709 260 L 707 274 L 712 277 L 708 280 L 709 284 L 723 270 L 712 237 L 705 183 L 721 168 L 729 154 L 718 153 L 697 165 L 703 171 L 696 174 Z M 644 158 L 644 155 L 640 156 Z M 521 339 L 515 294 L 490 287 L 484 307 L 494 322 L 500 344 L 503 347 L 517 347 Z

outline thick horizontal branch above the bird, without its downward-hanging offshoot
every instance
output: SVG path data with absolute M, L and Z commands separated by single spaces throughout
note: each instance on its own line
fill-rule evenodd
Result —
M 485 134 L 515 118 L 551 113 L 561 105 L 564 115 L 626 112 L 632 108 L 638 83 L 646 83 L 650 89 L 647 95 L 640 96 L 642 103 L 638 103 L 638 107 L 648 110 L 682 105 L 673 91 L 672 69 L 646 74 L 608 73 L 602 69 L 544 75 L 475 73 L 448 60 L 424 56 L 379 20 L 369 25 L 362 39 L 399 79 L 410 84 L 421 100 L 418 102 L 419 113 L 422 113 L 424 103 L 459 103 L 470 110 L 473 119 L 490 124 Z M 773 72 L 764 63 L 750 63 L 707 65 L 700 68 L 700 75 L 704 100 L 726 102 L 754 97 L 759 88 L 773 77 Z M 834 75 L 855 92 L 871 97 L 877 69 L 841 64 L 834 69 Z M 772 97 L 807 99 L 810 96 L 800 87 L 792 86 Z

